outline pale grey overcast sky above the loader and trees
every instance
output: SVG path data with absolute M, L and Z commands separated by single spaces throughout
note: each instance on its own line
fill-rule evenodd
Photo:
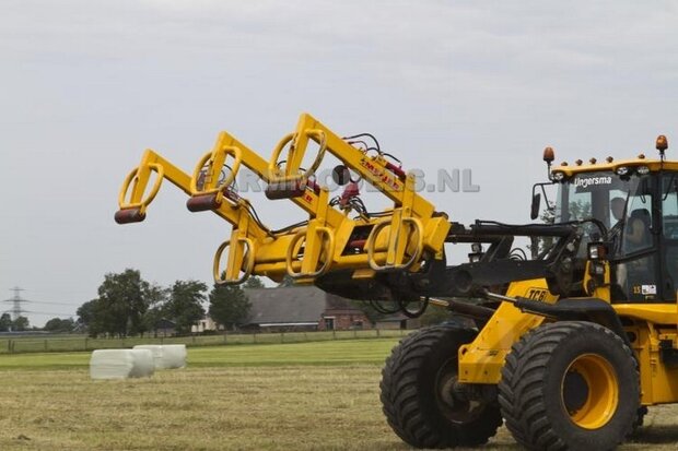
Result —
M 211 283 L 230 234 L 170 183 L 113 221 L 152 147 L 190 171 L 221 130 L 268 158 L 308 111 L 406 168 L 469 168 L 451 218 L 527 222 L 541 151 L 654 155 L 678 140 L 678 9 L 654 1 L 0 1 L 0 299 L 74 314 L 107 272 Z M 669 155 L 671 150 L 669 149 Z M 253 195 L 265 221 L 304 218 Z M 11 308 L 10 304 L 1 309 Z

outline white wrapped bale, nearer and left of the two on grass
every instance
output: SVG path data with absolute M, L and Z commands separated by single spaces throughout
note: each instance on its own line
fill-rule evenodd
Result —
M 92 379 L 143 378 L 154 370 L 153 353 L 149 349 L 96 349 L 90 359 Z

